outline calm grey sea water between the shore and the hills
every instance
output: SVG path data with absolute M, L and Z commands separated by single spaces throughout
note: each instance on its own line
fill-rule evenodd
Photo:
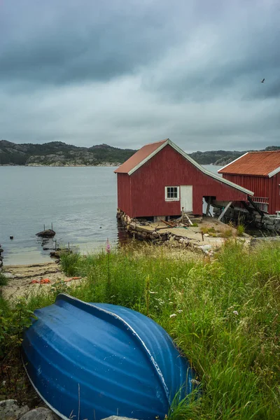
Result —
M 216 172 L 220 167 L 207 165 Z M 4 264 L 50 260 L 36 233 L 50 228 L 57 244 L 90 253 L 125 237 L 116 219 L 113 167 L 0 167 L 0 244 Z M 14 239 L 10 240 L 10 235 Z M 52 248 L 48 241 L 45 247 Z

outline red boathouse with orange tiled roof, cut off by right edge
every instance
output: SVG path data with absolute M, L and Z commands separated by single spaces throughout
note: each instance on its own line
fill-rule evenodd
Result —
M 245 153 L 218 172 L 252 190 L 260 210 L 280 216 L 280 151 Z

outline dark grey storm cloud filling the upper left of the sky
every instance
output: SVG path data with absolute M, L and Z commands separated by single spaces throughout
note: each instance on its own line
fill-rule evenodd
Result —
M 153 62 L 176 37 L 176 31 L 169 36 L 172 23 L 160 2 L 22 3 L 2 3 L 0 76 L 6 80 L 110 80 Z

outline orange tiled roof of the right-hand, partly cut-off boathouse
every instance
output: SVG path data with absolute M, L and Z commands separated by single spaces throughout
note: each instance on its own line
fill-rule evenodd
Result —
M 219 174 L 272 176 L 280 171 L 280 151 L 248 152 L 218 171 Z

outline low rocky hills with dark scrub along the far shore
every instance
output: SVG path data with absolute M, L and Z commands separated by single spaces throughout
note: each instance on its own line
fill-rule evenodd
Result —
M 265 151 L 280 150 L 280 146 L 269 146 Z M 90 148 L 71 146 L 61 141 L 45 144 L 15 144 L 0 140 L 0 165 L 26 166 L 98 166 L 120 165 L 135 153 L 132 149 L 121 149 L 108 144 Z M 190 157 L 201 165 L 227 165 L 246 153 L 239 151 L 209 151 L 190 153 Z

